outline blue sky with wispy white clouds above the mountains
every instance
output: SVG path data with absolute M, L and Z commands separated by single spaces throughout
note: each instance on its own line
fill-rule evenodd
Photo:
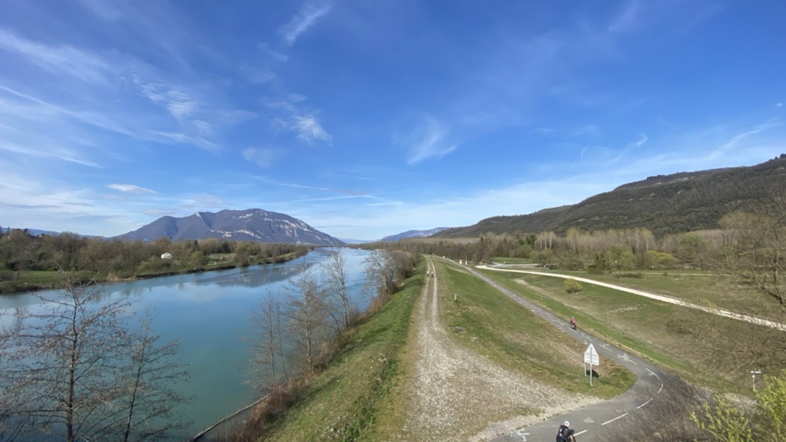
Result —
M 786 3 L 0 0 L 0 226 L 468 226 L 786 153 Z

